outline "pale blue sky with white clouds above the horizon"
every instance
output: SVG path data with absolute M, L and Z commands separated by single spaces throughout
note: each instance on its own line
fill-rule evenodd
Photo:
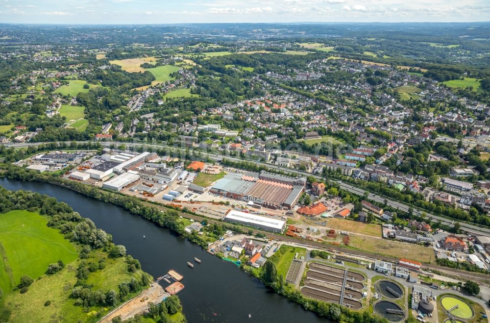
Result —
M 490 0 L 0 0 L 0 23 L 476 22 Z

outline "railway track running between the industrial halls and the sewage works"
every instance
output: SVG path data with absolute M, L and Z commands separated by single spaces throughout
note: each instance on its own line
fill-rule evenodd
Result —
M 157 207 L 160 210 L 169 210 L 170 209 L 169 207 L 166 207 L 163 205 L 158 205 L 158 204 L 153 204 L 153 203 L 150 203 L 150 202 L 147 202 L 144 200 L 143 200 L 143 203 L 145 203 L 149 206 Z M 175 211 L 177 211 L 179 213 L 179 215 L 182 216 L 183 218 L 192 219 L 192 220 L 199 221 L 199 222 L 201 222 L 202 220 L 206 220 L 208 223 L 212 223 L 212 224 L 215 224 L 215 223 L 216 224 L 222 224 L 223 223 L 223 221 L 221 221 L 221 220 L 208 218 L 206 216 L 189 214 L 189 213 L 185 213 L 185 212 L 182 212 L 179 210 L 175 210 Z M 354 256 L 358 256 L 358 257 L 368 258 L 368 259 L 373 260 L 373 261 L 378 259 L 378 260 L 388 261 L 388 262 L 392 262 L 392 263 L 396 264 L 396 263 L 398 263 L 398 260 L 399 260 L 398 258 L 394 258 L 394 257 L 379 255 L 379 254 L 375 254 L 375 253 L 369 253 L 369 252 L 365 252 L 365 251 L 353 250 L 353 249 L 349 249 L 349 248 L 342 248 L 342 247 L 338 247 L 338 246 L 334 246 L 334 245 L 326 245 L 326 244 L 316 242 L 316 241 L 289 237 L 289 236 L 280 235 L 277 233 L 271 233 L 268 231 L 263 231 L 263 230 L 258 230 L 258 229 L 252 229 L 252 231 L 253 231 L 253 234 L 262 233 L 266 237 L 272 238 L 275 240 L 292 242 L 292 243 L 304 245 L 306 247 L 316 248 L 316 249 L 325 250 L 325 251 L 335 250 L 337 252 L 342 252 L 346 255 L 354 255 Z M 456 279 L 462 279 L 463 278 L 466 280 L 479 281 L 481 283 L 483 283 L 483 282 L 487 283 L 490 281 L 490 275 L 487 275 L 485 273 L 466 272 L 466 271 L 462 271 L 462 270 L 458 270 L 458 269 L 451 269 L 451 268 L 437 266 L 437 265 L 431 265 L 431 264 L 422 264 L 422 268 L 426 269 L 426 270 L 438 271 L 438 272 L 444 273 L 446 275 L 449 275 L 451 277 L 455 277 Z

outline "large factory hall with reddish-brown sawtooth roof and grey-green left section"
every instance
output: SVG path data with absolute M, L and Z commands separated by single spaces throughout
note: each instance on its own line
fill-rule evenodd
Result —
M 291 209 L 304 191 L 305 177 L 291 177 L 266 171 L 226 174 L 209 192 L 232 199 L 251 201 L 257 207 Z

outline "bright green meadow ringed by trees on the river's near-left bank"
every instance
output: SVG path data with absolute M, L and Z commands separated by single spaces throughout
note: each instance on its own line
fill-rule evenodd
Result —
M 1 284 L 13 287 L 19 284 L 22 275 L 36 279 L 46 272 L 50 263 L 60 259 L 68 263 L 77 258 L 70 242 L 46 226 L 47 223 L 45 217 L 23 210 L 0 214 L 0 243 L 6 256 L 3 266 L 12 271 L 10 282 Z M 8 292 L 10 287 L 2 286 L 2 289 Z

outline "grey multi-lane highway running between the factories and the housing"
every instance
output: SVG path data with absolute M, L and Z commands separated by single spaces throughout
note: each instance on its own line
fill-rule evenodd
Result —
M 71 142 L 65 142 L 65 143 L 67 145 L 70 145 Z M 81 141 L 80 143 L 88 143 L 88 142 L 87 141 Z M 29 147 L 29 146 L 39 146 L 40 144 L 49 144 L 49 142 L 10 144 L 10 145 L 6 145 L 6 146 L 7 147 L 15 147 L 15 148 L 25 148 L 25 147 Z M 104 146 L 104 147 L 109 147 L 110 145 L 114 145 L 114 146 L 125 145 L 126 148 L 144 146 L 144 147 L 152 148 L 152 149 L 173 149 L 173 150 L 181 150 L 181 151 L 187 150 L 187 151 L 192 152 L 192 153 L 196 153 L 196 154 L 199 153 L 202 157 L 208 157 L 208 158 L 213 159 L 215 161 L 221 161 L 223 158 L 226 158 L 228 160 L 235 161 L 235 162 L 241 162 L 244 160 L 249 161 L 249 160 L 244 159 L 244 158 L 238 158 L 238 157 L 227 156 L 227 155 L 220 155 L 220 154 L 204 152 L 204 151 L 200 151 L 200 150 L 195 151 L 193 149 L 167 146 L 164 144 L 104 142 L 104 141 L 99 142 L 99 144 Z M 297 174 L 297 175 L 302 175 L 302 176 L 313 176 L 313 177 L 315 177 L 317 179 L 321 179 L 321 180 L 325 179 L 324 176 L 314 175 L 314 174 L 306 173 L 303 171 L 299 171 L 299 170 L 295 170 L 295 169 L 291 169 L 291 168 L 287 168 L 287 167 L 282 167 L 282 166 L 277 166 L 277 165 L 272 165 L 272 164 L 257 162 L 257 161 L 253 161 L 253 163 L 255 163 L 259 166 L 267 167 L 269 169 L 279 170 L 279 171 L 288 172 L 288 173 Z M 342 189 L 344 189 L 350 193 L 353 193 L 353 194 L 356 194 L 359 196 L 363 196 L 364 193 L 366 192 L 365 190 L 363 190 L 361 188 L 355 187 L 351 184 L 342 182 L 340 180 L 336 180 L 336 179 L 331 179 L 331 180 L 336 181 Z M 442 224 L 453 225 L 453 222 L 454 222 L 451 219 L 447 219 L 447 218 L 441 217 L 439 215 L 434 215 L 434 214 L 428 213 L 426 211 L 417 209 L 416 206 L 410 206 L 408 204 L 398 202 L 398 201 L 392 200 L 388 197 L 384 197 L 384 196 L 374 194 L 371 192 L 369 192 L 368 199 L 374 200 L 376 202 L 381 202 L 381 203 L 383 203 L 386 200 L 387 204 L 389 206 L 392 206 L 393 208 L 397 208 L 397 209 L 405 211 L 405 212 L 408 212 L 408 209 L 410 207 L 412 207 L 414 214 L 420 215 L 422 213 L 425 213 L 428 218 L 434 219 L 436 221 L 441 221 Z M 475 236 L 483 235 L 483 236 L 489 236 L 490 237 L 490 228 L 480 227 L 478 225 L 471 224 L 468 222 L 462 222 L 462 221 L 460 221 L 460 224 L 461 224 L 461 227 L 463 230 L 465 230 L 466 232 L 468 232 L 472 235 L 475 235 Z

